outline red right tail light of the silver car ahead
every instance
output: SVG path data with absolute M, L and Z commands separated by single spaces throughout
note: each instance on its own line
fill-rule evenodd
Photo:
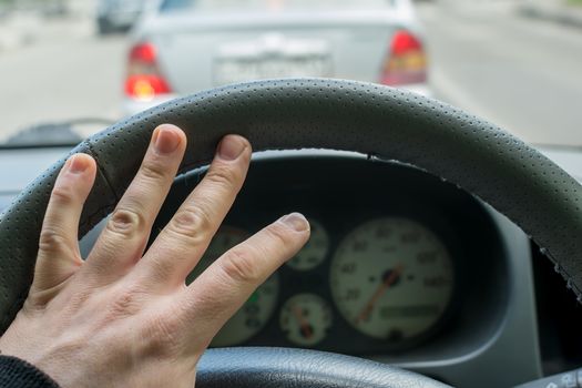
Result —
M 422 43 L 408 31 L 397 31 L 384 63 L 380 83 L 402 85 L 426 81 L 427 57 Z

